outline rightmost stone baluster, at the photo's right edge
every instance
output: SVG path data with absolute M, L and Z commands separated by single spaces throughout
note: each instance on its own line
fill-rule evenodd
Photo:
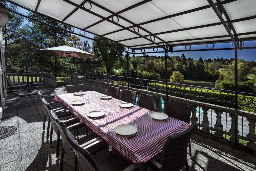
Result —
M 246 135 L 246 138 L 249 140 L 247 143 L 246 143 L 246 147 L 249 147 L 253 150 L 256 150 L 256 134 L 255 134 L 255 123 L 256 123 L 256 120 L 255 119 L 252 119 L 252 118 L 246 118 L 246 120 L 249 122 L 249 132 L 248 134 Z

